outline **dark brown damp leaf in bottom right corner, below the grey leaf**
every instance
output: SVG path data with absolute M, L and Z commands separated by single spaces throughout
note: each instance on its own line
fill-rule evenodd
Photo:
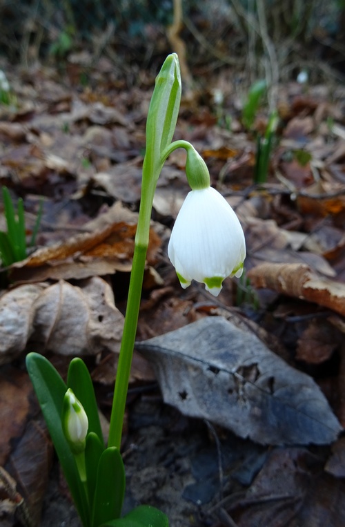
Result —
M 323 465 L 304 448 L 275 449 L 228 512 L 238 527 L 343 527 L 345 483 Z

